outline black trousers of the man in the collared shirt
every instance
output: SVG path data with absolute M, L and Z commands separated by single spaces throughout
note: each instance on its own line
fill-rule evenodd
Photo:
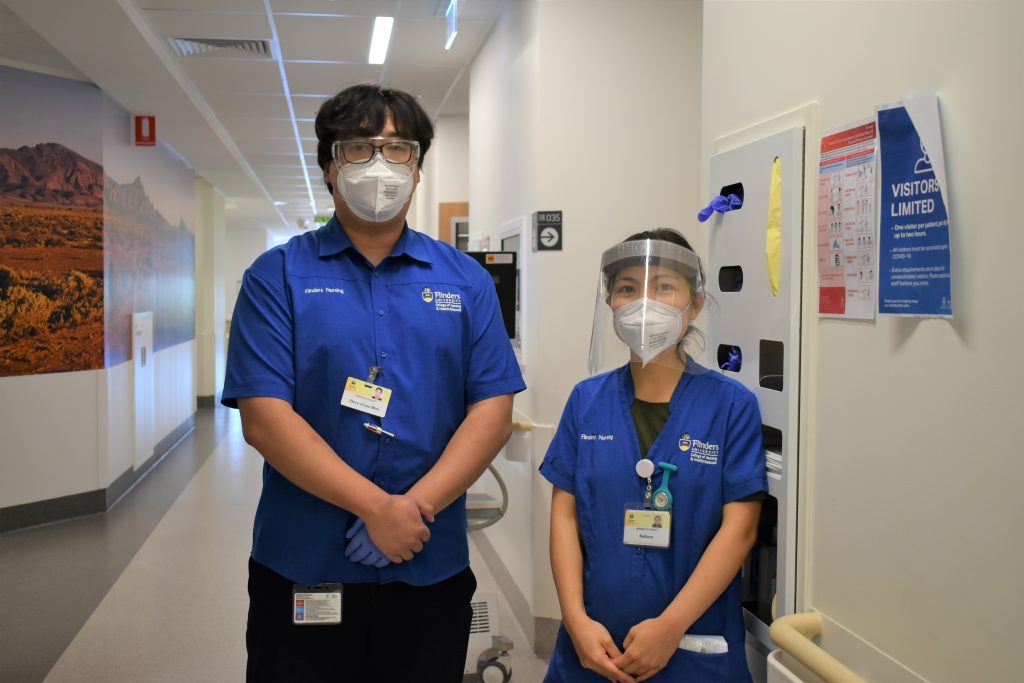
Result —
M 336 626 L 292 624 L 294 582 L 249 558 L 249 683 L 461 683 L 476 578 L 345 584 Z

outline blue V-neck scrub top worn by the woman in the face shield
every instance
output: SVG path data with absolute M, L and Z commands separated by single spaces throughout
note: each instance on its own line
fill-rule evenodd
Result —
M 640 506 L 646 480 L 630 405 L 629 367 L 581 382 L 572 390 L 541 465 L 551 483 L 575 497 L 584 551 L 584 604 L 620 647 L 630 629 L 657 616 L 676 597 L 722 524 L 722 507 L 768 490 L 761 413 L 743 385 L 692 358 L 669 403 L 670 416 L 647 457 L 679 467 L 671 475 L 670 548 L 623 543 L 627 506 Z M 652 477 L 657 488 L 660 470 Z M 744 650 L 739 577 L 687 633 L 724 636 L 723 654 L 677 650 L 651 681 L 751 680 Z M 560 630 L 546 681 L 603 681 L 584 670 Z

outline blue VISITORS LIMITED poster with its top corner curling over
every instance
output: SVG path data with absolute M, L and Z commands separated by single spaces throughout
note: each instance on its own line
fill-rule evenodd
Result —
M 949 193 L 934 94 L 880 109 L 879 313 L 952 317 Z

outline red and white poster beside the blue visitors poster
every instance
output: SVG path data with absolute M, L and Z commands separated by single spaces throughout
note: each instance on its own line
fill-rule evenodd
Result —
M 818 315 L 874 318 L 876 125 L 821 138 L 818 163 Z

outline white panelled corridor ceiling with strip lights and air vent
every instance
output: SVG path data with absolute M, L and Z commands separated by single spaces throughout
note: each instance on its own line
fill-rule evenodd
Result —
M 375 82 L 417 95 L 433 119 L 468 114 L 468 65 L 514 1 L 459 0 L 444 50 L 449 0 L 0 0 L 0 63 L 92 81 L 155 115 L 158 136 L 225 195 L 229 225 L 280 232 L 311 225 L 313 205 L 333 210 L 313 132 L 325 98 Z M 378 15 L 395 23 L 374 66 Z M 170 38 L 265 40 L 271 54 L 182 57 Z

